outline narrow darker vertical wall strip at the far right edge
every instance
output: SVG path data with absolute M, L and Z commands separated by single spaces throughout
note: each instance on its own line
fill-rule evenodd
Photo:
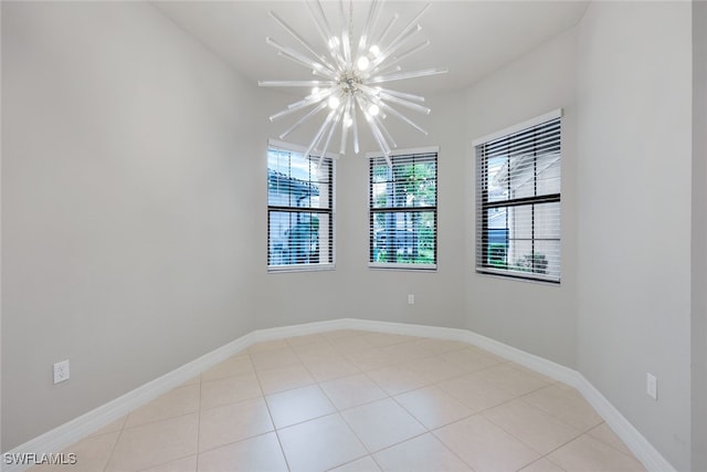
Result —
M 707 470 L 707 2 L 693 2 L 693 470 Z

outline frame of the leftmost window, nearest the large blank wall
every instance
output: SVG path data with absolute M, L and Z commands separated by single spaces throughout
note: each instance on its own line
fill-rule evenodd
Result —
M 292 159 L 292 155 L 299 155 L 300 158 L 304 159 L 304 154 L 306 153 L 306 148 L 304 146 L 297 146 L 291 143 L 283 143 L 275 139 L 268 139 L 267 148 L 266 148 L 266 172 L 267 172 L 267 220 L 266 220 L 266 231 L 267 231 L 267 248 L 266 248 L 266 261 L 267 261 L 267 272 L 268 273 L 286 273 L 286 272 L 313 272 L 313 271 L 330 271 L 336 269 L 336 161 L 338 159 L 338 155 L 327 153 L 325 155 L 326 161 L 329 162 L 329 207 L 328 208 L 319 208 L 319 207 L 294 207 L 294 206 L 278 206 L 271 204 L 270 202 L 270 165 L 267 165 L 267 159 L 270 158 L 270 153 L 272 150 L 275 151 L 285 151 L 289 153 L 289 159 Z M 310 156 L 309 160 L 314 162 L 316 166 L 318 164 L 318 156 Z M 289 212 L 289 213 L 321 213 L 329 216 L 329 229 L 328 229 L 328 245 L 330 248 L 330 262 L 316 262 L 316 263 L 291 263 L 291 264 L 271 264 L 271 213 L 273 212 Z M 319 240 L 320 241 L 320 240 Z M 319 245 L 321 245 L 319 243 Z

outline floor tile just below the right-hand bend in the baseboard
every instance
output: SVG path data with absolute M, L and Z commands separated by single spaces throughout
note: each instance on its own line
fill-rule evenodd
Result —
M 594 409 L 574 389 L 551 385 L 523 397 L 534 407 L 552 415 L 582 432 L 603 422 Z

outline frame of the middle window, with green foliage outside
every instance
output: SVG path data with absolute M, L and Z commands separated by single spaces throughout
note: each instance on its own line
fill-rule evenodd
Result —
M 368 172 L 368 196 L 369 196 L 369 251 L 368 251 L 368 268 L 374 270 L 403 270 L 403 271 L 426 271 L 435 272 L 439 265 L 439 174 L 440 174 L 440 148 L 439 146 L 420 147 L 411 149 L 397 149 L 389 155 L 391 164 L 394 165 L 395 159 L 407 159 L 411 156 L 424 156 L 434 154 L 434 206 L 423 207 L 374 207 L 373 206 L 373 166 L 377 160 L 384 159 L 384 155 L 380 151 L 367 153 L 366 157 L 369 161 Z M 377 213 L 423 213 L 432 212 L 434 222 L 434 249 L 433 249 L 433 263 L 415 263 L 415 262 L 376 262 L 374 254 L 374 216 Z

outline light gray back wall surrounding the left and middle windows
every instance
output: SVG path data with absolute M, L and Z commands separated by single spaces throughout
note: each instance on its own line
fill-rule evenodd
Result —
M 388 118 L 387 126 L 400 149 L 440 147 L 439 270 L 421 272 L 368 269 L 368 159 L 365 153 L 377 148 L 369 138 L 368 129 L 361 128 L 361 153 L 357 156 L 349 150 L 337 161 L 336 271 L 267 274 L 266 260 L 263 258 L 255 275 L 258 298 L 257 327 L 340 317 L 449 327 L 464 325 L 466 262 L 463 258 L 463 218 L 466 182 L 465 176 L 458 171 L 460 166 L 464 165 L 466 153 L 464 94 L 434 95 L 425 98 L 432 114 L 429 117 L 414 116 L 413 119 L 429 132 L 428 136 L 402 123 L 397 124 L 393 117 Z M 294 99 L 293 96 L 266 99 L 263 105 L 264 116 L 278 112 L 285 103 Z M 268 124 L 261 139 L 265 143 L 267 136 L 277 136 L 286 128 L 286 123 Z M 288 137 L 292 143 L 305 147 L 309 138 L 310 135 L 307 133 Z M 338 150 L 338 144 L 334 150 Z M 257 193 L 256 208 L 266 208 L 266 198 L 264 190 Z M 263 230 L 263 245 L 258 253 L 262 251 L 264 256 L 264 212 L 258 227 Z M 410 293 L 415 295 L 414 305 L 408 305 Z

